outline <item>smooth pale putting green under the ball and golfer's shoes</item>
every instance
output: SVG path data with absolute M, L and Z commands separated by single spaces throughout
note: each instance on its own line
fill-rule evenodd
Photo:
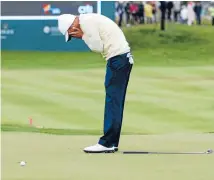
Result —
M 214 178 L 214 154 L 85 154 L 98 136 L 2 134 L 2 180 L 202 180 Z M 213 134 L 122 136 L 120 150 L 205 151 Z M 19 161 L 26 161 L 21 167 Z

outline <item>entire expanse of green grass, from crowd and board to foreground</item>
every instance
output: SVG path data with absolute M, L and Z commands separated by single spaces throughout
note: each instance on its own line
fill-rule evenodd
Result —
M 135 64 L 120 149 L 214 149 L 213 29 L 124 31 Z M 91 52 L 2 52 L 3 180 L 213 179 L 213 155 L 82 153 L 102 135 L 105 63 Z

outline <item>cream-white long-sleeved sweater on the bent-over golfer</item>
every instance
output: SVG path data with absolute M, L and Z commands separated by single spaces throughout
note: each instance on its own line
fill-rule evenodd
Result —
M 111 57 L 130 52 L 129 44 L 118 25 L 100 14 L 81 14 L 82 39 L 88 47 L 101 53 L 108 60 Z

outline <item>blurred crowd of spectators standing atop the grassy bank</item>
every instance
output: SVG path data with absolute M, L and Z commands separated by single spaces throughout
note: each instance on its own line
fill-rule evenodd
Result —
M 117 1 L 116 22 L 120 27 L 153 24 L 160 21 L 160 1 Z M 214 1 L 166 1 L 168 22 L 201 25 L 202 20 L 214 26 Z

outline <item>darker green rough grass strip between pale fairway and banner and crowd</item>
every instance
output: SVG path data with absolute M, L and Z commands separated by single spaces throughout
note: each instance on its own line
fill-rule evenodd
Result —
M 201 66 L 214 64 L 212 27 L 173 25 L 166 32 L 153 26 L 124 30 L 135 66 Z M 101 55 L 81 52 L 2 52 L 3 69 L 85 69 L 105 66 Z

